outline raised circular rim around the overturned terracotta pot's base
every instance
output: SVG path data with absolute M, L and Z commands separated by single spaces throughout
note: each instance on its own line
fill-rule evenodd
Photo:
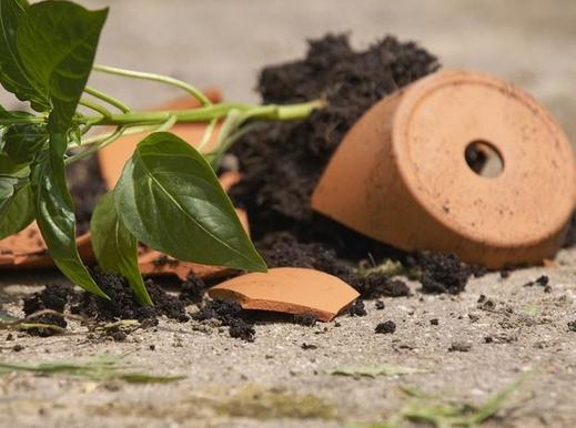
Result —
M 411 196 L 418 202 L 420 206 L 428 213 L 432 217 L 436 218 L 444 226 L 448 228 L 453 228 L 453 220 L 443 215 L 438 215 L 437 207 L 434 206 L 434 197 L 428 196 L 426 192 L 420 190 L 417 184 L 421 182 L 417 176 L 413 162 L 410 162 L 410 153 L 407 145 L 404 144 L 406 141 L 407 130 L 410 129 L 410 121 L 412 120 L 414 110 L 423 102 L 423 100 L 432 94 L 434 91 L 449 86 L 454 83 L 475 83 L 479 85 L 488 85 L 497 89 L 501 92 L 504 92 L 508 95 L 514 96 L 521 103 L 530 109 L 530 111 L 535 114 L 535 116 L 545 123 L 547 131 L 554 135 L 556 140 L 557 146 L 564 145 L 564 147 L 568 149 L 570 153 L 572 145 L 568 141 L 568 137 L 563 132 L 562 126 L 558 122 L 544 109 L 530 94 L 523 91 L 518 86 L 511 84 L 499 78 L 493 77 L 488 73 L 477 72 L 477 71 L 461 71 L 461 70 L 443 70 L 425 77 L 412 85 L 407 86 L 404 90 L 401 90 L 398 95 L 402 96 L 402 102 L 397 106 L 394 118 L 392 119 L 392 153 L 393 156 L 400 159 L 396 163 L 398 170 L 398 176 L 402 180 L 405 188 L 410 192 Z M 391 95 L 394 96 L 394 95 Z M 483 140 L 482 135 L 478 135 L 478 140 Z M 466 143 L 466 142 L 464 142 Z M 464 145 L 465 146 L 465 145 Z M 573 159 L 573 157 L 570 157 Z M 406 160 L 403 162 L 402 160 Z M 463 161 L 464 161 L 464 150 L 463 150 Z M 568 161 L 566 161 L 568 162 Z M 505 170 L 504 170 L 505 171 Z M 501 176 L 497 177 L 478 177 L 472 170 L 469 171 L 471 175 L 477 180 L 491 180 L 493 183 L 502 183 L 504 177 L 504 172 Z M 576 181 L 575 169 L 572 169 L 572 180 L 569 184 L 566 183 L 565 187 L 572 193 L 574 192 L 574 186 L 572 183 Z M 498 248 L 515 248 L 518 245 L 523 246 L 532 246 L 537 245 L 543 240 L 552 238 L 553 236 L 562 233 L 562 231 L 566 227 L 569 218 L 575 208 L 576 193 L 572 197 L 572 204 L 566 204 L 563 210 L 555 210 L 554 216 L 559 220 L 555 220 L 550 223 L 555 224 L 555 227 L 548 228 L 545 234 L 532 234 L 527 235 L 524 238 L 518 238 L 514 243 L 511 243 L 506 238 L 501 238 L 499 236 L 492 236 L 482 240 L 482 242 L 486 245 L 495 246 Z M 478 236 L 474 231 L 471 231 L 468 227 L 463 227 L 461 230 L 461 234 L 463 237 L 466 237 L 472 241 L 478 241 Z

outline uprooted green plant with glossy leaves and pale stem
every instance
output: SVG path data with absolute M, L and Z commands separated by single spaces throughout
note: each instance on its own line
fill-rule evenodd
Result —
M 79 286 L 107 297 L 78 254 L 64 169 L 122 135 L 149 131 L 117 187 L 102 197 L 93 214 L 93 247 L 100 265 L 125 276 L 142 304 L 152 302 L 137 263 L 138 242 L 183 261 L 265 271 L 214 169 L 252 121 L 302 119 L 321 103 L 212 104 L 201 91 L 172 78 L 94 65 L 107 14 L 108 9 L 89 11 L 67 1 L 30 6 L 27 0 L 0 0 L 0 83 L 34 111 L 0 108 L 0 238 L 36 220 L 57 266 Z M 87 86 L 92 70 L 180 88 L 201 106 L 132 111 Z M 202 155 L 200 150 L 218 121 L 222 128 L 215 149 Z M 199 150 L 166 132 L 178 122 L 209 123 Z M 85 136 L 101 125 L 115 129 Z

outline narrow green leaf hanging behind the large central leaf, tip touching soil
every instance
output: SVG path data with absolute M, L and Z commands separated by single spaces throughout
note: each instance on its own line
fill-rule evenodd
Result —
M 107 193 L 98 203 L 90 222 L 90 231 L 92 247 L 100 266 L 104 271 L 124 276 L 138 302 L 152 305 L 138 267 L 137 238 L 118 216 L 112 193 Z

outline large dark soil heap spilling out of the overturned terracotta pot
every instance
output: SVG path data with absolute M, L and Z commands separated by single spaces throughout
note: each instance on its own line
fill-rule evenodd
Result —
M 327 102 L 306 120 L 261 125 L 232 149 L 243 179 L 231 196 L 247 211 L 252 236 L 270 266 L 327 272 L 365 298 L 410 294 L 402 282 L 383 275 L 362 277 L 353 269 L 368 256 L 405 261 L 407 254 L 314 213 L 310 197 L 354 122 L 383 96 L 438 68 L 434 55 L 412 42 L 387 37 L 365 51 L 354 51 L 347 35 L 329 34 L 310 41 L 303 60 L 261 72 L 257 89 L 264 103 Z M 452 255 L 438 255 L 423 267 L 426 291 L 457 293 L 469 276 L 469 268 Z

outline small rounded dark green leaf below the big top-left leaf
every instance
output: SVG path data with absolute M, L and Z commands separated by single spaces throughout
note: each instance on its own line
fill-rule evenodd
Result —
M 4 131 L 4 151 L 17 164 L 30 163 L 48 142 L 43 125 L 14 123 Z

